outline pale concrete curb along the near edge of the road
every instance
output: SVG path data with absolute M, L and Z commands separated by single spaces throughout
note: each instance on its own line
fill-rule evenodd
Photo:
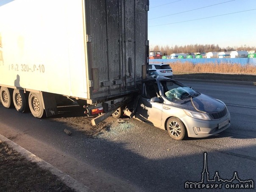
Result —
M 49 170 L 53 175 L 56 175 L 61 181 L 69 186 L 70 188 L 74 189 L 77 192 L 93 192 L 92 189 L 89 187 L 79 183 L 74 178 L 70 177 L 66 173 L 63 173 L 61 170 L 58 170 L 56 167 L 53 167 L 51 164 L 47 163 L 46 161 L 40 159 L 38 156 L 34 155 L 33 153 L 29 152 L 28 150 L 24 149 L 23 147 L 19 146 L 18 144 L 14 143 L 10 139 L 7 139 L 5 136 L 0 134 L 0 140 L 5 142 L 9 147 L 16 150 L 22 156 L 24 156 L 28 161 L 35 162 L 39 165 L 39 167 Z

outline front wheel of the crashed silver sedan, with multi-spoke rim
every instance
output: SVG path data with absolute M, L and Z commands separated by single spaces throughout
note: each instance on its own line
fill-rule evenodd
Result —
M 177 117 L 171 117 L 166 123 L 166 128 L 173 139 L 182 140 L 187 137 L 186 127 Z

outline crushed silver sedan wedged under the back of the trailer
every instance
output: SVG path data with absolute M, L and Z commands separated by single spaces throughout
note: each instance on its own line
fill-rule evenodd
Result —
M 208 137 L 230 126 L 225 104 L 163 76 L 148 77 L 136 109 L 125 114 L 166 130 L 173 139 Z

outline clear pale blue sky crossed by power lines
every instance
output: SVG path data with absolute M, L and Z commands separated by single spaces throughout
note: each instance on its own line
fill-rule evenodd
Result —
M 256 0 L 150 0 L 148 40 L 156 46 L 256 47 Z

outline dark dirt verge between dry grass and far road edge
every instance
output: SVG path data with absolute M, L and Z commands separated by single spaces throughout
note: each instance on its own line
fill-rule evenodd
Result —
M 255 82 L 256 75 L 174 72 L 173 78 Z

